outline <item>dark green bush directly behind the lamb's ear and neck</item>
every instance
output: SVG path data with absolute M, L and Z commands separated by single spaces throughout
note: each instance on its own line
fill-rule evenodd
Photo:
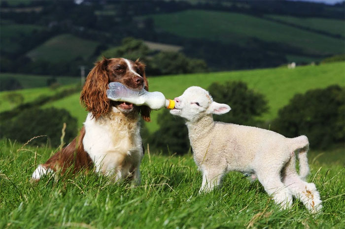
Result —
M 231 111 L 223 115 L 214 115 L 215 121 L 231 122 L 241 125 L 258 125 L 255 117 L 268 111 L 267 101 L 260 93 L 249 89 L 243 82 L 213 83 L 209 93 L 217 103 L 225 103 Z

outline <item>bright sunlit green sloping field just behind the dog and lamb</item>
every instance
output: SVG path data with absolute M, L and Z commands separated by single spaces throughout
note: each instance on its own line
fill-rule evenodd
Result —
M 167 98 L 182 94 L 189 86 L 207 88 L 213 82 L 244 81 L 250 88 L 265 95 L 270 111 L 261 119 L 272 120 L 279 108 L 285 106 L 296 93 L 303 93 L 313 88 L 324 88 L 332 84 L 345 86 L 345 62 L 323 64 L 319 66 L 301 66 L 295 69 L 269 68 L 232 72 L 198 73 L 177 76 L 148 78 L 150 91 L 162 91 Z M 231 106 L 231 104 L 229 104 Z M 78 118 L 79 126 L 85 120 L 86 112 L 79 104 L 79 94 L 73 94 L 46 107 L 59 107 L 69 110 Z M 146 123 L 150 131 L 158 129 L 157 115 L 151 113 L 151 123 Z

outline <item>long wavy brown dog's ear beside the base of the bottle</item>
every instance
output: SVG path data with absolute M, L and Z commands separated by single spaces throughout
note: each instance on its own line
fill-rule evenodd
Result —
M 85 85 L 80 94 L 80 102 L 97 119 L 106 114 L 110 107 L 109 99 L 106 96 L 109 77 L 106 66 L 110 60 L 103 57 L 102 60 L 95 63 L 95 67 L 90 71 L 86 78 Z

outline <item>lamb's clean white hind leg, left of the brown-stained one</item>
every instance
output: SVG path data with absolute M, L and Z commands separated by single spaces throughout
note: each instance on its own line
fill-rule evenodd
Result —
M 272 173 L 272 172 L 271 172 Z M 264 186 L 265 191 L 272 195 L 273 200 L 283 209 L 292 205 L 292 195 L 288 188 L 280 181 L 280 174 L 270 174 L 269 171 L 257 172 L 258 180 Z

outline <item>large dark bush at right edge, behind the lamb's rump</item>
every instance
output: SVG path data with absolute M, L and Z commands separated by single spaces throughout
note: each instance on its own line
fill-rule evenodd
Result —
M 272 128 L 289 138 L 306 135 L 315 148 L 344 143 L 344 98 L 344 87 L 338 85 L 296 94 L 279 110 Z

